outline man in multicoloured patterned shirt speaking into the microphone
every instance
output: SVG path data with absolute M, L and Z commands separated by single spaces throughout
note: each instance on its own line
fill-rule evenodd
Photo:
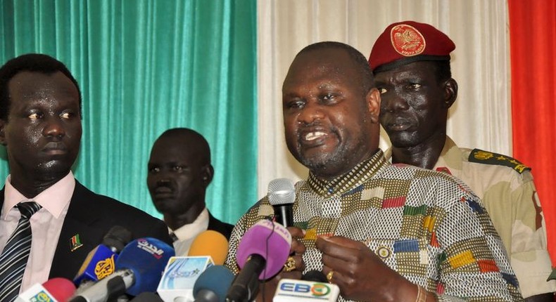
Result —
M 339 301 L 521 301 L 500 237 L 481 200 L 443 173 L 389 164 L 379 149 L 380 95 L 364 55 L 339 42 L 303 48 L 282 86 L 289 151 L 307 166 L 296 184 L 284 270 L 260 284 L 321 270 Z M 268 197 L 232 232 L 239 271 L 244 232 L 273 216 Z M 286 271 L 287 270 L 287 271 Z

